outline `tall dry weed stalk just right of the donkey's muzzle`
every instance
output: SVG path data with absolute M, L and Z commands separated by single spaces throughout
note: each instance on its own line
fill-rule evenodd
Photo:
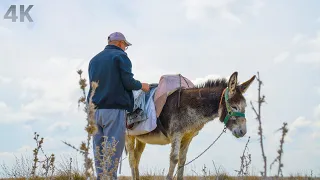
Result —
M 257 80 L 258 80 L 258 83 L 259 83 L 259 85 L 258 85 L 258 111 L 253 106 L 252 101 L 250 101 L 250 103 L 251 103 L 253 111 L 255 112 L 255 114 L 257 116 L 256 119 L 259 122 L 258 135 L 260 136 L 260 146 L 261 146 L 262 158 L 263 158 L 263 162 L 264 162 L 264 166 L 263 166 L 264 172 L 261 172 L 261 175 L 264 176 L 264 177 L 267 177 L 267 157 L 265 155 L 264 147 L 263 147 L 263 133 L 262 133 L 262 121 L 261 121 L 261 106 L 262 106 L 262 103 L 265 103 L 266 101 L 265 101 L 265 95 L 263 95 L 261 97 L 261 86 L 262 86 L 263 83 L 262 83 L 262 81 L 260 79 L 259 72 L 258 72 Z

